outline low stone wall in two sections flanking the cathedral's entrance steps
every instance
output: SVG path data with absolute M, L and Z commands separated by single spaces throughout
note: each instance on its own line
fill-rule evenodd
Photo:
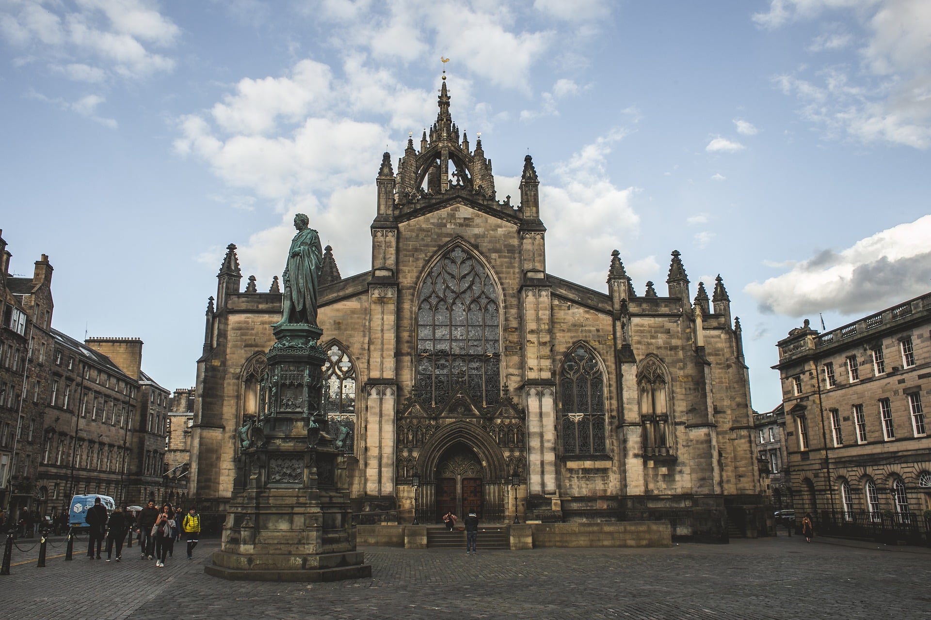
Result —
M 668 521 L 521 523 L 509 526 L 511 549 L 533 547 L 672 547 Z M 358 525 L 360 547 L 426 548 L 424 525 Z

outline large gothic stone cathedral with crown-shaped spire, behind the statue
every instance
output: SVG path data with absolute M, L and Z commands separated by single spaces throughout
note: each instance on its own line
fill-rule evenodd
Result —
M 443 77 L 445 80 L 445 76 Z M 762 495 L 738 319 L 719 276 L 695 297 L 635 291 L 617 251 L 595 291 L 546 270 L 533 160 L 519 204 L 452 122 L 385 152 L 371 270 L 319 277 L 321 406 L 358 522 L 669 521 L 694 539 L 756 535 Z M 374 167 L 374 166 L 373 166 Z M 313 222 L 312 224 L 313 225 Z M 261 411 L 277 278 L 242 290 L 230 244 L 197 362 L 189 495 L 222 513 L 241 484 L 236 430 Z M 282 248 L 284 254 L 285 248 Z

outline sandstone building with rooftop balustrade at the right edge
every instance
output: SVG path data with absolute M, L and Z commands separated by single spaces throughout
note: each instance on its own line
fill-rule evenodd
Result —
M 780 340 L 796 511 L 909 523 L 931 509 L 931 294 Z

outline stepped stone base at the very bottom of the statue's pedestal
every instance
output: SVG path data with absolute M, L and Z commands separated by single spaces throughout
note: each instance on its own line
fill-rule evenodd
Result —
M 340 581 L 371 577 L 371 565 L 363 561 L 360 551 L 310 556 L 240 555 L 217 551 L 213 554 L 213 565 L 205 566 L 204 572 L 240 581 Z

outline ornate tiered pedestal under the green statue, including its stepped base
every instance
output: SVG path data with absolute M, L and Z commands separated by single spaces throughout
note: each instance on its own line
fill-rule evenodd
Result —
M 356 550 L 345 461 L 320 411 L 325 356 L 313 325 L 279 325 L 259 420 L 240 429 L 241 487 L 205 572 L 251 581 L 370 577 Z

